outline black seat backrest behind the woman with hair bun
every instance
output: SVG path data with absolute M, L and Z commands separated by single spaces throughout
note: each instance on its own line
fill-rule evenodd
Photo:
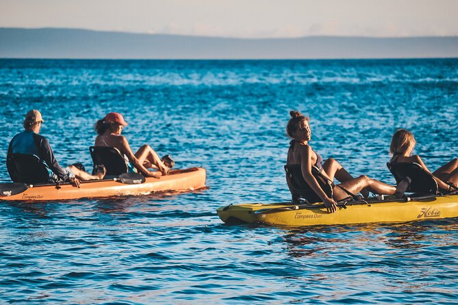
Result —
M 287 164 L 285 165 L 285 171 L 294 191 L 299 194 L 301 198 L 307 200 L 309 203 L 322 202 L 321 198 L 311 189 L 308 183 L 305 182 L 301 164 Z M 325 194 L 327 194 L 329 198 L 332 198 L 333 189 L 328 179 L 325 178 L 315 166 L 311 167 L 311 174 L 314 175 L 322 190 L 325 191 Z

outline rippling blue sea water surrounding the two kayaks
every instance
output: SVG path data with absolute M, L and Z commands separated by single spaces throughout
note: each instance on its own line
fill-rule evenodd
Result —
M 453 304 L 458 222 L 314 228 L 226 226 L 229 203 L 290 198 L 288 112 L 311 145 L 356 175 L 394 183 L 392 133 L 416 136 L 431 170 L 458 157 L 458 59 L 327 61 L 0 60 L 0 180 L 35 108 L 62 165 L 94 122 L 125 115 L 133 148 L 202 165 L 209 189 L 0 205 L 0 302 L 23 304 Z

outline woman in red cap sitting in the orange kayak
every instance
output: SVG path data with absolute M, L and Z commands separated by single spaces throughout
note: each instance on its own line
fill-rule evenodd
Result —
M 148 170 L 155 168 L 160 170 L 163 175 L 168 174 L 170 168 L 175 164 L 173 159 L 169 155 L 160 158 L 148 144 L 144 144 L 136 153 L 133 153 L 129 142 L 121 135 L 125 126 L 127 126 L 127 122 L 121 114 L 110 112 L 95 124 L 94 129 L 97 131 L 97 137 L 94 145 L 114 147 L 119 150 L 126 160 L 129 172 L 137 170 L 144 176 L 159 178 L 157 172 Z

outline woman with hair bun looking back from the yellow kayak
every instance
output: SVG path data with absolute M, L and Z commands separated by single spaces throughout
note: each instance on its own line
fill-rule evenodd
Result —
M 307 182 L 311 189 L 313 189 L 322 199 L 328 212 L 334 213 L 337 211 L 336 201 L 348 197 L 344 189 L 353 194 L 361 192 L 364 197 L 369 196 L 369 191 L 375 194 L 394 194 L 396 188 L 392 185 L 387 185 L 383 182 L 369 178 L 366 175 L 353 178 L 338 161 L 335 161 L 335 159 L 329 158 L 322 164 L 322 157 L 309 145 L 311 139 L 309 117 L 303 116 L 299 111 L 290 111 L 290 116 L 291 119 L 288 122 L 286 132 L 292 138 L 292 141 L 288 150 L 287 164 L 301 165 L 301 172 L 305 182 Z M 321 174 L 328 178 L 329 181 L 334 181 L 334 178 L 340 181 L 340 186 L 333 184 L 333 198 L 329 198 L 321 189 L 318 181 L 316 181 L 316 178 L 311 173 L 312 165 L 316 166 Z M 294 198 L 294 189 L 290 181 L 288 181 L 288 177 L 287 182 L 294 200 L 296 199 Z M 342 187 L 344 189 L 342 189 Z

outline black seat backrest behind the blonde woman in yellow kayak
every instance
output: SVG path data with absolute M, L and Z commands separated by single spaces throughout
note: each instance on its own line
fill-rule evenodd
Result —
M 417 194 L 438 194 L 439 187 L 430 172 L 418 163 L 389 162 L 387 167 L 396 179 L 396 184 L 405 178 L 411 178 L 411 183 L 406 192 Z

